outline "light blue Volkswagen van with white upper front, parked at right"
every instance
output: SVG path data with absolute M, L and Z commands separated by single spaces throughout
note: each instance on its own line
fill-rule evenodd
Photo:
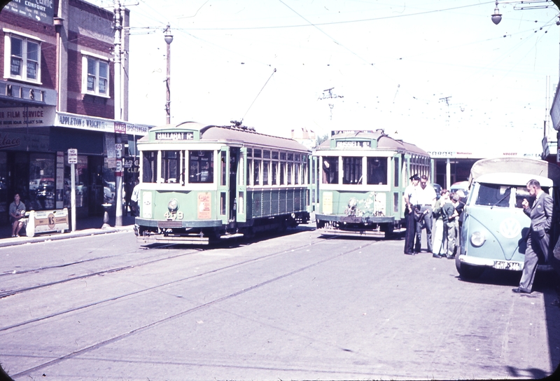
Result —
M 462 278 L 479 277 L 485 268 L 523 270 L 531 219 L 523 212 L 521 202 L 526 198 L 532 205 L 526 189 L 531 179 L 538 180 L 542 190 L 554 199 L 550 231 L 554 247 L 559 233 L 555 221 L 560 201 L 560 167 L 528 158 L 478 160 L 470 171 L 461 252 L 455 257 Z

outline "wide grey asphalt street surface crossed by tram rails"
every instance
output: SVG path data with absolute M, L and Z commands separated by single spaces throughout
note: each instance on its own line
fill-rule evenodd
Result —
M 540 378 L 560 363 L 550 277 L 458 279 L 402 240 L 311 226 L 234 247 L 146 249 L 128 232 L 0 248 L 13 380 Z

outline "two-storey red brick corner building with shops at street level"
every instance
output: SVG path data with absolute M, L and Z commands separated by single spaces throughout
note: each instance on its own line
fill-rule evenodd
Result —
M 127 76 L 115 116 L 113 18 L 81 0 L 13 0 L 0 12 L 0 221 L 15 193 L 27 210 L 69 207 L 69 148 L 78 150 L 78 216 L 114 201 L 119 141 L 125 180 L 134 176 L 135 141 L 148 126 L 127 122 Z

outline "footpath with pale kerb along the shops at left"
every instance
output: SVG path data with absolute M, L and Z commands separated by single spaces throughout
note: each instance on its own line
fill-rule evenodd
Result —
M 65 240 L 73 237 L 85 237 L 87 235 L 115 233 L 134 228 L 134 217 L 123 216 L 123 226 L 115 226 L 115 216 L 109 216 L 109 227 L 103 226 L 103 216 L 86 217 L 76 219 L 76 231 L 66 231 L 66 233 L 43 233 L 36 234 L 34 237 L 27 237 L 25 230 L 20 230 L 20 237 L 12 237 L 12 226 L 7 223 L 0 226 L 0 247 L 15 246 L 33 242 L 44 242 L 52 240 Z M 70 225 L 70 229 L 72 226 Z

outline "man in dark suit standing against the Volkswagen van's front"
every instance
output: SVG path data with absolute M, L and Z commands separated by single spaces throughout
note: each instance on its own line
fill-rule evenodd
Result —
M 527 189 L 531 197 L 535 197 L 533 207 L 529 207 L 527 199 L 524 199 L 523 211 L 531 218 L 531 228 L 527 237 L 527 249 L 525 251 L 525 265 L 521 275 L 519 287 L 512 289 L 514 293 L 531 293 L 535 271 L 537 270 L 539 257 L 548 261 L 549 230 L 552 223 L 552 197 L 540 188 L 537 180 L 529 180 Z

